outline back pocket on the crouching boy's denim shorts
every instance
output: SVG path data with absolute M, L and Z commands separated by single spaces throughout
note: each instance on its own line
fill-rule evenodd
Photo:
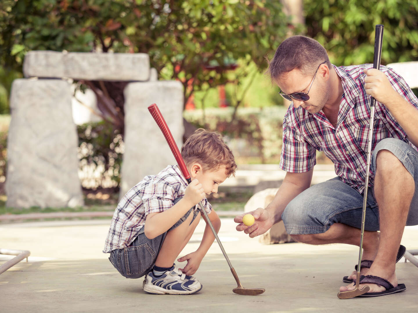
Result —
M 144 274 L 155 261 L 155 252 L 147 244 L 126 247 L 124 249 L 125 268 L 127 275 Z

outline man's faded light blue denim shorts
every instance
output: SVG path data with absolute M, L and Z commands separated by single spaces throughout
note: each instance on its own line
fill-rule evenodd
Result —
M 418 152 L 402 140 L 382 139 L 372 153 L 370 169 L 373 173 L 376 172 L 376 156 L 380 150 L 392 152 L 414 178 L 415 193 L 406 225 L 418 225 Z M 282 220 L 289 235 L 319 234 L 334 223 L 361 228 L 362 211 L 363 194 L 335 177 L 298 194 L 285 208 Z M 370 189 L 364 229 L 379 230 L 379 207 Z

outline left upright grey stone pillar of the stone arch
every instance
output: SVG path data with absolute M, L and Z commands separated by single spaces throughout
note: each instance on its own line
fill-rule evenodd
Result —
M 10 110 L 6 205 L 83 205 L 69 83 L 16 79 Z

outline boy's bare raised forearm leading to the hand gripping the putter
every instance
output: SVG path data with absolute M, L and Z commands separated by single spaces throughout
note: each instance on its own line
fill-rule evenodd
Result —
M 193 207 L 193 204 L 186 201 L 186 199 L 181 199 L 176 204 L 174 204 L 170 209 L 155 214 L 152 217 L 145 220 L 145 236 L 149 239 L 153 239 L 167 230 L 180 218 L 186 214 Z

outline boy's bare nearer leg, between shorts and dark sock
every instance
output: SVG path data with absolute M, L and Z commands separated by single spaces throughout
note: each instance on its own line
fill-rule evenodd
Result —
M 196 228 L 196 220 L 191 224 L 193 218 L 193 212 L 187 217 L 187 219 L 181 223 L 178 227 L 167 232 L 166 238 L 164 239 L 163 245 L 161 246 L 160 252 L 158 253 L 155 265 L 161 268 L 170 268 L 173 266 L 176 257 L 184 247 L 184 241 L 186 236 L 191 237 L 194 228 Z M 194 226 L 193 230 L 191 228 Z

